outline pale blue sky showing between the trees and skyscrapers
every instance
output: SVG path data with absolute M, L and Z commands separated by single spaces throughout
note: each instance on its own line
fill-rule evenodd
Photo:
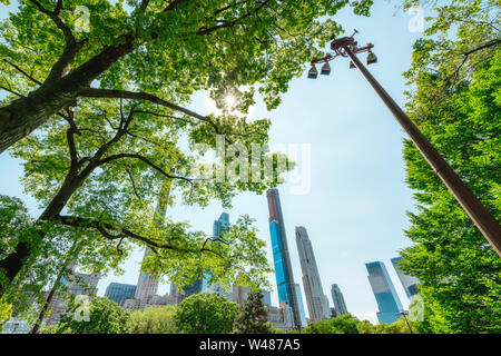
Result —
M 396 11 L 395 4 L 400 2 L 375 1 L 370 18 L 355 17 L 343 10 L 335 20 L 347 34 L 357 29 L 358 43 L 374 43 L 380 61 L 370 70 L 403 106 L 403 91 L 407 88 L 402 72 L 410 67 L 412 44 L 421 34 L 409 30 L 412 16 Z M 13 6 L 1 6 L 0 18 L 13 9 Z M 365 55 L 362 56 L 365 60 Z M 361 73 L 348 69 L 347 59 L 338 58 L 331 65 L 330 77 L 308 80 L 305 71 L 302 78 L 294 79 L 276 110 L 268 112 L 257 98 L 253 117 L 272 120 L 271 146 L 311 145 L 310 191 L 294 195 L 291 194 L 291 184 L 279 187 L 295 281 L 302 285 L 294 228 L 304 226 L 312 240 L 324 294 L 328 296 L 331 306 L 331 285 L 336 283 L 344 294 L 348 312 L 376 323 L 377 306 L 365 263 L 384 261 L 402 304 L 404 307 L 409 305 L 390 264 L 390 258 L 395 257 L 399 249 L 410 245 L 403 233 L 407 226 L 405 211 L 413 209 L 412 191 L 404 184 L 404 132 Z M 196 93 L 189 108 L 208 113 L 205 95 Z M 0 167 L 0 194 L 22 198 L 30 212 L 38 216 L 37 202 L 22 192 L 19 161 L 3 152 Z M 298 169 L 304 168 L 299 160 Z M 257 220 L 261 237 L 268 244 L 267 256 L 272 263 L 266 197 L 244 194 L 233 205 L 233 209 L 225 210 L 230 221 L 243 214 Z M 194 229 L 209 234 L 213 221 L 222 211 L 220 205 L 215 202 L 206 209 L 176 206 L 169 212 L 174 219 L 189 220 Z M 110 281 L 136 284 L 141 257 L 143 251 L 137 250 L 124 265 L 125 275 L 102 278 L 98 295 L 104 295 Z M 275 285 L 273 275 L 271 281 Z M 161 294 L 167 290 L 167 285 L 160 287 Z M 272 301 L 278 304 L 275 291 Z

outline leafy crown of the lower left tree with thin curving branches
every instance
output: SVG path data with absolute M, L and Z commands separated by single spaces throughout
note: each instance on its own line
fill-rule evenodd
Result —
M 92 126 L 95 115 L 106 117 L 100 127 Z M 81 240 L 79 259 L 91 270 L 117 269 L 134 246 L 146 246 L 154 254 L 144 268 L 178 286 L 194 281 L 200 274 L 209 274 L 214 281 L 232 284 L 237 277 L 245 281 L 249 270 L 255 280 L 264 281 L 269 269 L 263 251 L 265 244 L 257 238 L 249 217 L 238 219 L 225 233 L 225 239 L 215 240 L 164 215 L 176 198 L 178 204 L 204 207 L 210 199 L 218 199 L 229 206 L 238 191 L 262 192 L 276 185 L 277 177 L 267 181 L 240 180 L 229 169 L 224 180 L 193 177 L 203 169 L 198 162 L 200 146 L 212 148 L 218 139 L 233 142 L 233 135 L 249 130 L 252 134 L 239 139 L 238 147 L 250 151 L 252 145 L 266 144 L 268 121 L 247 123 L 227 116 L 218 122 L 226 136 L 218 138 L 206 122 L 195 125 L 175 116 L 167 120 L 166 116 L 138 103 L 122 105 L 121 100 L 117 106 L 91 105 L 78 112 L 68 110 L 63 121 L 51 121 L 41 129 L 47 129 L 46 135 L 19 142 L 13 155 L 26 161 L 26 189 L 46 206 L 35 224 L 36 241 L 66 235 Z M 186 130 L 188 149 L 180 147 L 181 129 Z M 283 155 L 262 151 L 257 158 L 275 162 L 276 175 L 293 167 L 278 169 L 276 162 L 285 162 Z M 223 155 L 218 165 L 204 169 L 226 172 L 226 167 L 234 167 L 232 164 L 239 159 Z M 252 170 L 245 167 L 236 169 Z M 156 208 L 158 200 L 161 201 Z M 156 210 L 159 212 L 154 214 Z M 20 245 L 24 247 L 21 249 Z M 2 261 L 9 277 L 6 281 L 12 280 L 23 267 L 23 258 L 33 254 L 30 243 L 19 241 Z

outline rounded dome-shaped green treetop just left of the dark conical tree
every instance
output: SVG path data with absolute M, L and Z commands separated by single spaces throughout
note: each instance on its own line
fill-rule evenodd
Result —
M 229 334 L 238 312 L 238 305 L 222 295 L 199 293 L 183 299 L 174 319 L 184 334 Z

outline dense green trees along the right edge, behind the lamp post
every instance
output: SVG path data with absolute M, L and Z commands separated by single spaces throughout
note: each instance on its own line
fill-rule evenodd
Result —
M 406 1 L 416 4 L 416 1 Z M 438 4 L 414 44 L 406 111 L 482 204 L 501 218 L 498 1 Z M 423 332 L 500 333 L 501 259 L 405 140 L 410 212 L 401 268 L 420 279 Z

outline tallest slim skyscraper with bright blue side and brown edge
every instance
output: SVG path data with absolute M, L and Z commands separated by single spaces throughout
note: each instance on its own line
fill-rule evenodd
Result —
M 301 310 L 294 287 L 294 275 L 285 235 L 284 217 L 277 189 L 266 191 L 269 210 L 269 234 L 272 236 L 273 261 L 279 303 L 286 301 L 292 309 L 295 327 L 301 326 Z

